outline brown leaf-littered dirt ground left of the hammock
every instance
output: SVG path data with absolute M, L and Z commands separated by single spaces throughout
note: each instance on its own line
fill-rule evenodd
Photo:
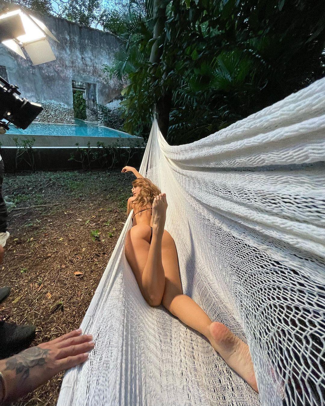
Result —
M 15 205 L 1 270 L 11 294 L 0 316 L 36 326 L 32 345 L 80 326 L 123 228 L 132 180 L 120 171 L 4 176 L 3 195 Z M 15 406 L 55 405 L 62 376 Z

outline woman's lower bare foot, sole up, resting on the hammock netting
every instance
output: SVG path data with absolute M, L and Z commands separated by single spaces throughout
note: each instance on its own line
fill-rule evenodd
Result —
M 213 348 L 226 363 L 258 392 L 252 357 L 248 345 L 235 336 L 224 324 L 213 322 L 209 326 Z

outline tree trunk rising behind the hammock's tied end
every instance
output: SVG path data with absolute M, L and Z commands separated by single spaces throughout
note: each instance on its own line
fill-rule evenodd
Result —
M 153 10 L 155 18 L 157 18 L 156 24 L 153 28 L 153 38 L 157 40 L 153 43 L 151 48 L 151 54 L 149 62 L 152 64 L 161 63 L 161 55 L 163 53 L 163 41 L 162 35 L 164 33 L 164 26 L 166 22 L 166 7 L 167 0 L 155 0 L 153 3 Z M 155 81 L 155 70 L 153 69 L 153 82 Z M 163 92 L 162 97 L 160 97 L 156 102 L 157 114 L 158 114 L 158 125 L 161 133 L 166 138 L 169 127 L 169 112 L 171 108 L 171 95 L 165 94 Z

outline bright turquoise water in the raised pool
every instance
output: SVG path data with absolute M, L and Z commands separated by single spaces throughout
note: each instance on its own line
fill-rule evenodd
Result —
M 15 128 L 9 125 L 8 135 L 63 135 L 82 137 L 131 137 L 133 135 L 126 132 L 113 130 L 112 128 L 86 123 L 86 121 L 75 119 L 75 124 L 51 124 L 51 123 L 31 123 L 26 130 Z

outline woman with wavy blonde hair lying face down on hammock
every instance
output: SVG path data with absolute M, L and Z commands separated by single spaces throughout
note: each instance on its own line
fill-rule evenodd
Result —
M 150 306 L 163 304 L 187 326 L 203 334 L 224 361 L 255 391 L 258 391 L 248 345 L 224 324 L 209 316 L 183 294 L 176 246 L 164 229 L 166 194 L 131 166 L 122 173 L 133 172 L 133 197 L 127 201 L 127 214 L 133 209 L 133 227 L 127 232 L 125 256 L 136 277 L 142 296 Z

